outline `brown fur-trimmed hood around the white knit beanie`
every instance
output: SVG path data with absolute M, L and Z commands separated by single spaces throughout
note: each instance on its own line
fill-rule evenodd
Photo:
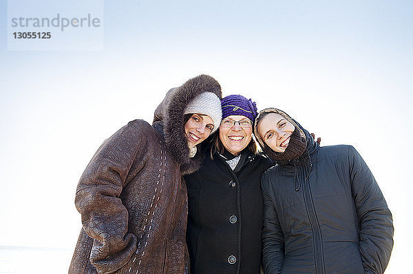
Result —
M 172 157 L 180 163 L 180 171 L 183 174 L 198 170 L 204 159 L 200 149 L 195 157 L 189 157 L 188 140 L 184 134 L 184 111 L 193 98 L 204 92 L 212 92 L 222 99 L 218 81 L 202 74 L 187 80 L 180 87 L 170 89 L 153 115 L 154 124 L 162 123 L 165 144 Z

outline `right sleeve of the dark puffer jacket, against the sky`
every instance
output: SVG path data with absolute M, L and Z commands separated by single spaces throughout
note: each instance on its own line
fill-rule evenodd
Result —
M 383 273 L 393 248 L 393 221 L 383 194 L 357 150 L 349 146 L 352 195 L 359 216 L 359 249 L 365 273 Z

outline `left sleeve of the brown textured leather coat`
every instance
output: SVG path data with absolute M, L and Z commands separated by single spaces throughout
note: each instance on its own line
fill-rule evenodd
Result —
M 100 146 L 78 183 L 75 205 L 93 239 L 90 262 L 98 273 L 120 269 L 136 250 L 136 236 L 127 232 L 128 212 L 119 198 L 131 166 L 145 164 L 147 138 L 136 123 L 129 122 Z

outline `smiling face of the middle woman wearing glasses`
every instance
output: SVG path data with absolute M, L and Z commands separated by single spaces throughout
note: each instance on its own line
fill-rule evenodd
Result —
M 253 127 L 251 124 L 249 126 L 241 126 L 239 122 L 235 123 L 233 126 L 225 126 L 223 123 L 225 120 L 233 121 L 250 121 L 244 115 L 230 115 L 226 117 L 220 126 L 220 141 L 224 145 L 224 148 L 231 152 L 232 155 L 238 155 L 246 146 L 252 138 Z M 250 122 L 251 123 L 251 122 Z M 231 124 L 231 123 L 230 123 Z

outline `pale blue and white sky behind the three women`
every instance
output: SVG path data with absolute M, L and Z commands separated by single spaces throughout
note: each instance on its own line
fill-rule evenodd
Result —
M 410 265 L 411 1 L 105 1 L 104 49 L 89 52 L 8 51 L 5 2 L 0 245 L 74 249 L 76 185 L 98 146 L 207 73 L 322 145 L 357 148 L 394 217 L 386 273 Z

